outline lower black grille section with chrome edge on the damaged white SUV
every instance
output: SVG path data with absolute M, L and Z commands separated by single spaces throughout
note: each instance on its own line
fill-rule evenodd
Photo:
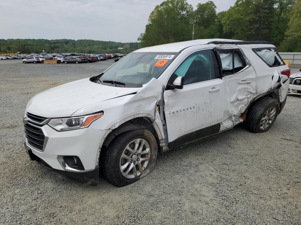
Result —
M 42 151 L 45 143 L 45 135 L 42 129 L 26 123 L 24 124 L 24 131 L 28 144 Z

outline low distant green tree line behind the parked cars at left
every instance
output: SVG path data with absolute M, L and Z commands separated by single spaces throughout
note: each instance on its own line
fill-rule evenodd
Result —
M 118 49 L 118 48 L 123 49 Z M 95 40 L 0 39 L 1 53 L 129 53 L 139 48 L 138 42 L 121 43 Z

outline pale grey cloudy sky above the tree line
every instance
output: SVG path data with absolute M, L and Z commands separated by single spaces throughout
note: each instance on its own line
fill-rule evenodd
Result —
M 163 0 L 0 1 L 0 38 L 93 39 L 136 42 Z M 187 0 L 194 9 L 206 0 Z M 216 11 L 235 0 L 213 0 Z M 4 20 L 3 20 L 4 19 Z

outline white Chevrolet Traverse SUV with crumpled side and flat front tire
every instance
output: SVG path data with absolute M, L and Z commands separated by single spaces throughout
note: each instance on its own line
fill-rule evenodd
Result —
M 103 73 L 35 95 L 23 118 L 32 160 L 79 182 L 116 186 L 158 153 L 233 128 L 268 131 L 290 69 L 275 46 L 203 39 L 138 49 Z

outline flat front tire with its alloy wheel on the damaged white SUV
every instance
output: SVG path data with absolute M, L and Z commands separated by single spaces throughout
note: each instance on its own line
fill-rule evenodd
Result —
M 138 150 L 136 152 L 133 147 L 133 145 L 135 146 L 135 143 L 133 142 L 134 140 L 138 142 Z M 141 149 L 142 143 L 144 143 L 143 149 Z M 134 155 L 131 154 L 130 151 L 126 150 L 127 146 L 131 147 Z M 142 154 L 139 155 L 139 152 L 141 151 Z M 145 153 L 143 154 L 143 152 Z M 117 187 L 132 184 L 149 174 L 154 169 L 157 153 L 157 142 L 150 131 L 141 129 L 122 133 L 112 140 L 101 158 L 101 167 L 104 177 L 108 182 Z M 148 158 L 148 161 L 141 160 L 146 158 Z M 124 166 L 123 173 L 121 172 L 122 166 Z M 134 173 L 134 168 L 137 170 L 137 173 Z M 128 172 L 128 174 L 126 174 L 126 172 Z

